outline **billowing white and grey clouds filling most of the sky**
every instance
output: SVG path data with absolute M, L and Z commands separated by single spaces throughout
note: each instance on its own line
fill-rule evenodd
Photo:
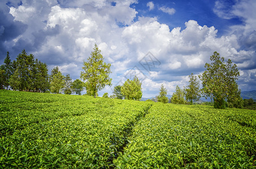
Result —
M 256 66 L 255 31 L 249 15 L 244 18 L 245 26 L 232 28 L 242 31 L 242 37 L 235 33 L 218 37 L 214 26 L 199 25 L 195 20 L 184 23 L 184 29 L 172 30 L 159 23 L 157 17 L 141 16 L 134 21 L 137 11 L 130 7 L 136 3 L 132 0 L 118 1 L 115 6 L 107 0 L 23 1 L 22 6 L 15 3 L 9 7 L 0 3 L 0 51 L 10 51 L 15 57 L 15 51 L 19 53 L 25 48 L 28 54 L 47 63 L 49 69 L 58 65 L 63 74 L 70 73 L 73 79 L 80 77 L 83 61 L 95 43 L 105 61 L 111 63 L 113 86 L 125 81 L 127 73 L 135 69 L 133 73 L 143 78 L 144 96 L 158 93 L 160 84 L 167 87 L 168 94 L 177 85 L 186 86 L 188 75 L 201 73 L 214 51 L 231 59 L 244 72 L 241 84 L 254 79 L 255 72 L 250 71 Z M 246 13 L 239 9 L 248 6 L 240 4 L 232 8 L 232 15 L 242 17 L 238 11 Z M 154 3 L 147 3 L 147 7 L 153 10 Z M 175 9 L 164 6 L 159 10 L 175 13 Z M 245 48 L 241 41 L 246 42 Z M 159 61 L 157 65 L 146 57 L 149 51 Z M 141 61 L 151 69 L 146 69 Z

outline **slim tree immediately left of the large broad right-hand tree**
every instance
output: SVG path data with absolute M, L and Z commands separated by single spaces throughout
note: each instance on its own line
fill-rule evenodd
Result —
M 190 101 L 190 104 L 193 104 L 193 101 L 198 101 L 201 97 L 199 81 L 193 73 L 189 75 L 189 85 L 184 92 L 186 101 Z

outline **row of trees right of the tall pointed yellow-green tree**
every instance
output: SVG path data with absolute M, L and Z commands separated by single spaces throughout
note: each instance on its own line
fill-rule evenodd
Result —
M 237 65 L 232 64 L 230 59 L 224 63 L 224 57 L 220 57 L 216 51 L 210 56 L 210 60 L 211 63 L 205 64 L 206 70 L 198 78 L 193 73 L 189 75 L 188 86 L 183 87 L 183 89 L 176 86 L 176 91 L 170 99 L 166 96 L 167 89 L 162 84 L 159 95 L 152 100 L 162 103 L 193 104 L 194 101 L 198 101 L 203 96 L 206 99 L 210 97 L 214 103 L 214 108 L 242 108 L 244 100 L 242 100 L 241 90 L 238 89 L 236 82 L 239 76 Z M 202 88 L 200 88 L 199 79 L 202 81 Z M 140 100 L 141 96 L 141 82 L 137 77 L 134 77 L 133 81 L 127 79 L 123 86 L 116 86 L 110 97 Z M 105 93 L 103 97 L 108 97 L 108 94 Z

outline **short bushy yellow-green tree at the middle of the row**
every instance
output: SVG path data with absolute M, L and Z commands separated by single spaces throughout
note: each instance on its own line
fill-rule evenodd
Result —
M 127 79 L 121 87 L 121 92 L 125 99 L 128 100 L 141 100 L 142 88 L 140 80 L 135 76 L 132 81 Z

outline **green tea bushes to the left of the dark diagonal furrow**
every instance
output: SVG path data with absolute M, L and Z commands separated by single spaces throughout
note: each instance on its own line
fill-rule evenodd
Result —
M 0 168 L 110 168 L 150 103 L 0 90 Z

